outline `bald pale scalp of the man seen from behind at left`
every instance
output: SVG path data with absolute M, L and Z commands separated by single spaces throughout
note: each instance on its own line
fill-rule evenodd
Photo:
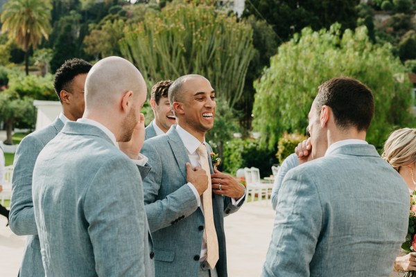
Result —
M 85 109 L 94 110 L 114 105 L 127 91 L 137 98 L 146 94 L 146 82 L 140 71 L 122 57 L 106 57 L 89 71 L 85 81 Z

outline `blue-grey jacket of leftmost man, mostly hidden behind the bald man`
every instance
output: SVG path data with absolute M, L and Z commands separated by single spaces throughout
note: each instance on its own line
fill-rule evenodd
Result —
M 44 129 L 26 136 L 15 155 L 10 203 L 10 229 L 17 235 L 28 235 L 20 276 L 44 276 L 40 243 L 37 237 L 32 201 L 32 175 L 35 161 L 46 143 L 49 143 L 64 127 L 59 118 Z

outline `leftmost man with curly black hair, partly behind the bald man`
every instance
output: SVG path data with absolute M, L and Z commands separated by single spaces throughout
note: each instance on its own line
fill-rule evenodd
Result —
M 16 235 L 28 235 L 19 276 L 44 276 L 40 243 L 37 237 L 32 201 L 32 175 L 35 161 L 46 143 L 51 141 L 68 120 L 77 120 L 84 113 L 84 85 L 92 64 L 73 59 L 56 71 L 54 88 L 62 112 L 51 125 L 26 136 L 15 156 L 10 203 L 10 229 Z

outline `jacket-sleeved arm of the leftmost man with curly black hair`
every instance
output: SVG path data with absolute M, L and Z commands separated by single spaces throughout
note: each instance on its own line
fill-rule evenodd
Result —
M 33 212 L 32 175 L 44 144 L 34 136 L 21 141 L 15 155 L 10 202 L 10 229 L 16 235 L 37 235 Z

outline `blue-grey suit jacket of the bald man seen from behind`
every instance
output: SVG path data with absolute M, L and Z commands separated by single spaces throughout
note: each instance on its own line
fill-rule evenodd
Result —
M 154 276 L 137 166 L 98 127 L 67 122 L 40 152 L 33 206 L 46 276 Z

